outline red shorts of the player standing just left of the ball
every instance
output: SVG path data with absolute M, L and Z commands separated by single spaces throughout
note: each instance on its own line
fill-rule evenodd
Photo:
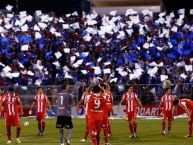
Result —
M 20 125 L 20 117 L 17 115 L 6 115 L 5 116 L 6 126 L 19 126 Z

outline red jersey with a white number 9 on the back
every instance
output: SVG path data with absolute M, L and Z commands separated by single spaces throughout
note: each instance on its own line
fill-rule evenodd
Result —
M 101 93 L 93 93 L 88 100 L 88 115 L 94 115 L 96 118 L 103 119 L 103 112 L 106 106 L 106 100 Z

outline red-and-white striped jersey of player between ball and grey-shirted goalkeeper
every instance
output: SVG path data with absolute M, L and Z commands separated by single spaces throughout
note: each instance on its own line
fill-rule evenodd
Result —
M 40 113 L 40 112 L 45 113 L 48 97 L 42 93 L 42 94 L 36 95 L 34 97 L 34 100 L 36 102 L 36 112 L 37 113 Z

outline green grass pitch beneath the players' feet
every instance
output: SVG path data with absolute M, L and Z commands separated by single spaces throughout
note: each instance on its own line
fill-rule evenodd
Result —
M 28 127 L 23 126 L 23 122 L 29 121 Z M 22 145 L 60 145 L 58 139 L 58 130 L 55 128 L 56 119 L 46 120 L 45 136 L 37 136 L 37 122 L 35 119 L 22 119 L 21 140 Z M 172 134 L 170 136 L 161 135 L 161 120 L 143 120 L 138 119 L 138 137 L 129 138 L 128 123 L 125 120 L 111 120 L 113 136 L 110 140 L 112 145 L 192 145 L 192 138 L 184 138 L 188 132 L 187 118 L 176 119 L 172 125 Z M 81 143 L 80 139 L 84 135 L 84 119 L 73 119 L 74 128 L 71 137 L 71 145 L 91 145 Z M 6 144 L 6 131 L 4 120 L 0 120 L 0 130 L 2 137 L 0 145 Z M 15 143 L 15 128 L 12 129 L 12 144 Z M 101 145 L 103 142 L 103 132 L 101 132 Z

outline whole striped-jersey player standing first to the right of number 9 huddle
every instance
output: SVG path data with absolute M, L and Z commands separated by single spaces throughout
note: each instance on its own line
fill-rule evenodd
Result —
M 129 86 L 128 92 L 123 94 L 122 99 L 119 103 L 118 111 L 120 110 L 122 103 L 126 104 L 126 117 L 129 122 L 129 130 L 131 132 L 131 137 L 136 138 L 137 132 L 137 123 L 136 123 L 136 109 L 137 105 L 139 107 L 143 107 L 140 100 L 138 99 L 138 95 L 133 92 L 133 87 Z

